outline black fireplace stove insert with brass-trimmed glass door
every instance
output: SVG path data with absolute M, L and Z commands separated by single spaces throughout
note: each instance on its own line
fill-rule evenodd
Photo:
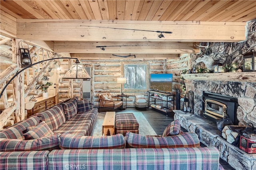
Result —
M 237 107 L 238 101 L 235 97 L 204 91 L 202 103 L 203 117 L 214 123 L 217 120 L 229 117 L 234 125 L 238 125 L 236 117 Z

